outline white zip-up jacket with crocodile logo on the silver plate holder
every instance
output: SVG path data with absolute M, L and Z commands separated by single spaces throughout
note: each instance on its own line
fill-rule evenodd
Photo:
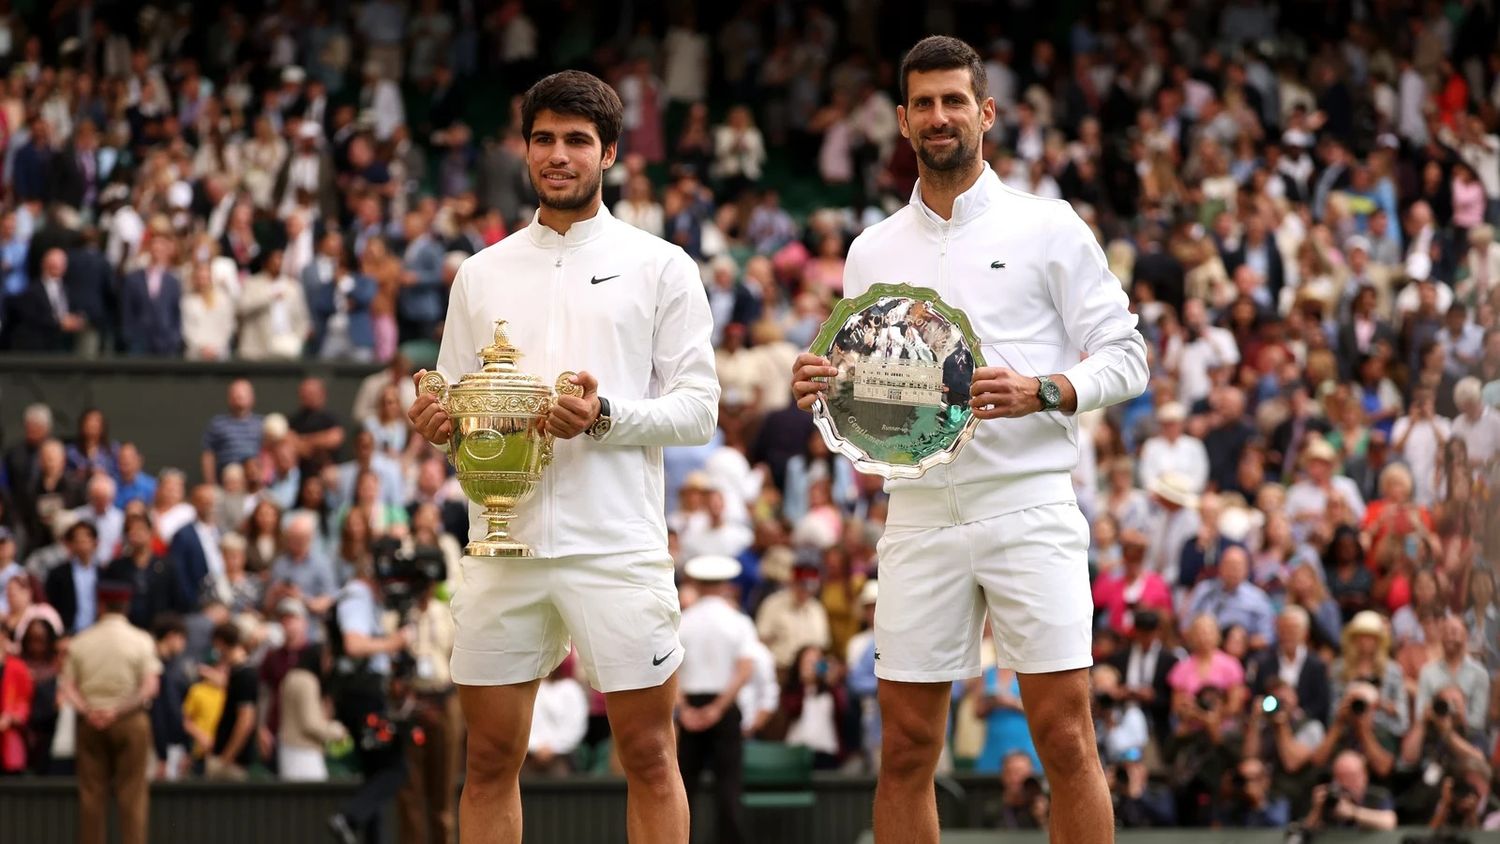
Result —
M 988 165 L 951 220 L 922 204 L 918 184 L 904 208 L 854 240 L 844 295 L 876 283 L 936 289 L 969 316 L 987 366 L 1065 375 L 1077 412 L 1146 388 L 1146 342 L 1094 232 L 1066 202 L 1006 187 Z M 951 463 L 886 481 L 886 525 L 962 525 L 1074 501 L 1077 462 L 1072 415 L 982 420 Z

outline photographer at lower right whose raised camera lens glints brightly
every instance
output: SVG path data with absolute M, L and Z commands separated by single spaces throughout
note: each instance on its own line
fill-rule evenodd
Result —
M 1298 687 L 1282 676 L 1272 675 L 1266 694 L 1251 702 L 1242 754 L 1264 765 L 1270 792 L 1288 801 L 1288 814 L 1308 811 L 1308 792 L 1318 775 L 1312 753 L 1324 733 L 1302 709 Z

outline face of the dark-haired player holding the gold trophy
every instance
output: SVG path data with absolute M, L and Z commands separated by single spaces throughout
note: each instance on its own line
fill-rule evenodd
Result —
M 586 117 L 537 112 L 526 144 L 531 184 L 542 205 L 576 211 L 600 196 L 604 171 L 615 163 L 616 145 L 600 144 L 598 130 Z

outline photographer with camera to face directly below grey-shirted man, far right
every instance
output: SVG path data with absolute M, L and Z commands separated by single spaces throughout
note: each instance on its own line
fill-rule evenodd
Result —
M 1420 823 L 1431 817 L 1444 780 L 1464 765 L 1485 763 L 1484 733 L 1468 726 L 1464 706 L 1464 693 L 1456 685 L 1438 691 L 1401 739 L 1396 771 L 1406 783 L 1400 790 L 1404 820 Z

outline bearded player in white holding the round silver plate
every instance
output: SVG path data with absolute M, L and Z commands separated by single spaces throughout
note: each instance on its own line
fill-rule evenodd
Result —
M 934 288 L 968 313 L 988 366 L 974 372 L 970 406 L 986 420 L 974 441 L 952 463 L 886 484 L 876 841 L 938 841 L 933 772 L 950 690 L 980 673 L 986 613 L 1000 666 L 1020 675 L 1052 786 L 1052 841 L 1112 841 L 1089 712 L 1089 526 L 1070 472 L 1074 414 L 1140 394 L 1146 345 L 1074 210 L 1004 186 L 982 160 L 994 100 L 969 45 L 928 37 L 912 48 L 897 120 L 916 150 L 918 184 L 850 244 L 844 295 L 882 282 Z M 798 405 L 812 408 L 826 387 L 814 379 L 830 375 L 826 360 L 798 357 Z

